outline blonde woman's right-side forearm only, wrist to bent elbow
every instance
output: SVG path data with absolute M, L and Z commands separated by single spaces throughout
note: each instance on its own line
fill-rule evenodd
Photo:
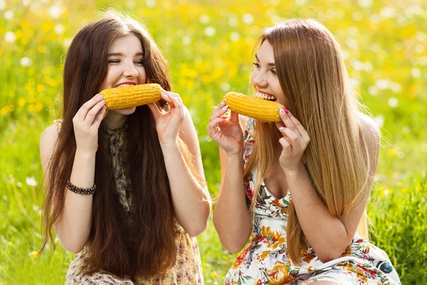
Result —
M 322 261 L 339 257 L 351 240 L 344 224 L 330 214 L 304 165 L 299 170 L 285 172 L 285 175 L 298 221 L 317 257 Z

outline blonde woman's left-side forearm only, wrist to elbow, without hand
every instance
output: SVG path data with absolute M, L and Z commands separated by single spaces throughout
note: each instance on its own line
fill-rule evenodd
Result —
M 221 244 L 239 252 L 251 235 L 252 220 L 243 184 L 243 155 L 228 156 L 220 195 L 214 209 L 214 225 Z

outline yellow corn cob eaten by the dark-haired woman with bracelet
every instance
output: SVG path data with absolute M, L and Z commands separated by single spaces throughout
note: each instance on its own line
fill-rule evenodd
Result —
M 159 84 L 137 84 L 105 89 L 100 92 L 104 96 L 108 110 L 137 107 L 160 100 L 162 88 Z

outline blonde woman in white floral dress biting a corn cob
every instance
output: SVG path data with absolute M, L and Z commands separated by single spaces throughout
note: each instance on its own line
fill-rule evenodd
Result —
M 400 284 L 369 243 L 365 208 L 380 133 L 349 86 L 339 44 L 314 20 L 267 28 L 251 83 L 285 105 L 280 123 L 239 116 L 222 102 L 209 135 L 220 146 L 214 224 L 223 247 L 243 249 L 226 284 Z

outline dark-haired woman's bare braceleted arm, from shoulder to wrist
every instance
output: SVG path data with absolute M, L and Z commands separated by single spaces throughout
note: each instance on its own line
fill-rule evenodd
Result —
M 94 124 L 99 126 L 100 121 L 105 114 L 98 113 L 101 110 L 103 102 L 100 100 L 93 100 L 91 105 L 93 107 L 92 114 L 95 118 Z M 90 101 L 88 101 L 90 102 Z M 95 105 L 96 104 L 96 105 Z M 99 122 L 98 122 L 99 120 Z M 97 131 L 97 129 L 96 129 Z M 48 172 L 48 163 L 53 154 L 53 148 L 58 139 L 58 132 L 56 125 L 51 125 L 43 131 L 40 139 L 40 156 L 41 165 L 45 180 L 49 180 L 50 173 Z M 73 185 L 82 188 L 90 188 L 93 186 L 95 177 L 95 153 L 88 151 L 88 149 L 79 148 L 75 152 L 73 170 L 70 176 L 70 182 Z M 85 244 L 88 242 L 92 221 L 92 202 L 93 195 L 80 195 L 76 194 L 65 188 L 65 203 L 63 214 L 54 225 L 55 232 L 60 240 L 62 247 L 68 252 L 78 253 Z M 52 205 L 53 206 L 53 205 Z

